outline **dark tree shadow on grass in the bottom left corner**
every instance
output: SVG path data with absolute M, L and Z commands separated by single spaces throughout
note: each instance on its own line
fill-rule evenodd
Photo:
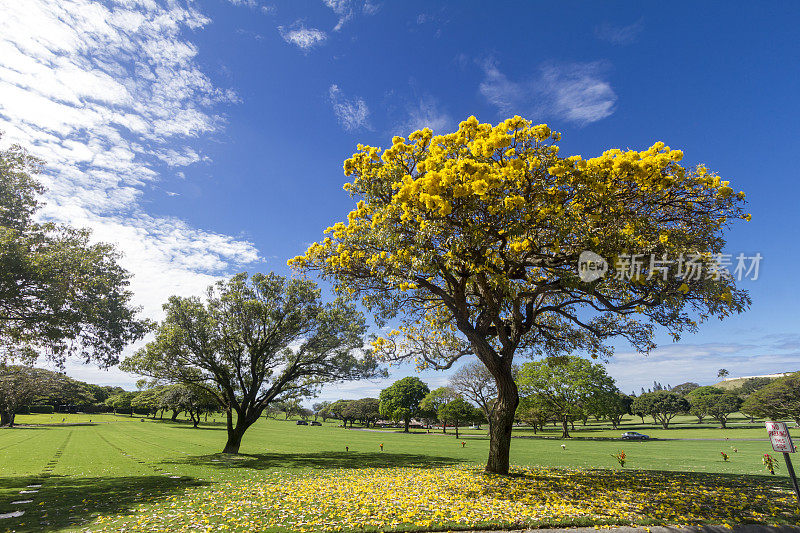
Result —
M 36 493 L 20 494 L 28 484 L 41 484 Z M 0 519 L 0 530 L 55 531 L 87 527 L 98 516 L 124 514 L 137 505 L 157 503 L 189 487 L 209 485 L 188 477 L 167 476 L 47 478 L 0 477 L 0 515 L 25 511 L 20 517 Z M 30 489 L 28 489 L 30 490 Z M 26 504 L 12 504 L 33 500 Z

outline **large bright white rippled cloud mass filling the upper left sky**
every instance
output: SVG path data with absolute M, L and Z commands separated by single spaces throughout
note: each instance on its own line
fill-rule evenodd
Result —
M 209 22 L 203 14 L 90 0 L 0 0 L 0 10 L 3 142 L 47 161 L 44 218 L 118 246 L 145 316 L 260 260 L 250 242 L 153 216 L 141 202 L 163 172 L 207 160 L 193 143 L 219 130 L 219 105 L 238 101 L 184 38 Z

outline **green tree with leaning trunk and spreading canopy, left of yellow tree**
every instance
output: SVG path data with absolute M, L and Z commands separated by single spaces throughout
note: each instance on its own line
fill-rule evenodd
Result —
M 364 349 L 364 318 L 323 303 L 307 279 L 237 274 L 200 298 L 173 296 L 155 340 L 121 368 L 156 382 L 206 390 L 226 413 L 224 453 L 272 402 L 315 394 L 325 383 L 381 374 Z

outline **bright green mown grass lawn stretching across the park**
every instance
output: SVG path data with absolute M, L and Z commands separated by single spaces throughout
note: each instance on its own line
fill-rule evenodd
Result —
M 61 425 L 62 419 L 65 419 L 66 425 Z M 141 530 L 158 530 L 164 524 L 169 525 L 169 527 L 165 526 L 164 530 L 178 527 L 192 530 L 204 527 L 205 524 L 202 523 L 202 520 L 206 520 L 208 517 L 198 518 L 200 520 L 198 523 L 183 523 L 180 520 L 190 514 L 184 510 L 181 513 L 173 513 L 175 515 L 173 519 L 180 523 L 164 522 L 161 524 L 162 514 L 163 516 L 170 515 L 169 510 L 175 508 L 176 502 L 182 501 L 198 502 L 192 507 L 193 512 L 202 509 L 205 505 L 202 502 L 206 501 L 204 498 L 207 496 L 210 497 L 209 495 L 214 494 L 218 499 L 221 497 L 221 488 L 226 488 L 227 492 L 236 493 L 236 491 L 244 490 L 243 487 L 246 489 L 261 485 L 283 486 L 288 483 L 285 476 L 289 476 L 293 480 L 292 483 L 299 483 L 300 481 L 297 480 L 300 479 L 306 480 L 303 483 L 311 483 L 308 480 L 340 476 L 342 479 L 350 479 L 352 483 L 357 484 L 360 482 L 353 476 L 361 475 L 364 472 L 365 475 L 368 474 L 371 477 L 363 484 L 386 486 L 386 483 L 391 485 L 392 482 L 381 481 L 383 478 L 380 476 L 385 476 L 385 474 L 375 474 L 374 472 L 381 469 L 384 472 L 388 471 L 386 469 L 394 469 L 391 471 L 397 472 L 398 476 L 407 479 L 408 476 L 404 474 L 405 472 L 414 472 L 415 468 L 425 467 L 432 472 L 439 469 L 436 471 L 440 472 L 442 476 L 455 476 L 455 478 L 461 479 L 460 476 L 465 475 L 463 469 L 450 469 L 452 467 L 477 469 L 486 460 L 488 450 L 488 440 L 484 434 L 462 435 L 462 438 L 455 439 L 452 434 L 442 436 L 441 434 L 422 432 L 409 435 L 396 430 L 381 432 L 345 430 L 330 423 L 323 427 L 314 427 L 297 426 L 292 420 L 263 420 L 253 426 L 245 435 L 241 449 L 242 456 L 230 459 L 217 453 L 224 445 L 226 434 L 221 419 L 217 418 L 216 420 L 216 423 L 209 420 L 208 423 L 201 424 L 200 428 L 193 429 L 185 421 L 173 423 L 114 415 L 18 416 L 17 423 L 19 424 L 56 425 L 0 430 L 0 515 L 19 510 L 25 511 L 24 515 L 17 518 L 0 519 L 0 531 L 100 527 L 116 530 L 123 525 L 129 530 L 139 530 L 136 526 L 136 516 L 139 515 L 150 517 L 147 519 L 149 522 L 147 520 L 143 522 L 149 525 L 141 526 Z M 617 436 L 622 431 L 634 427 L 635 430 L 658 438 L 718 439 L 727 436 L 730 439 L 763 439 L 765 437 L 765 431 L 759 430 L 757 427 L 753 429 L 733 427 L 727 430 L 709 426 L 692 427 L 697 425 L 689 423 L 688 418 L 685 421 L 679 421 L 676 429 L 667 431 L 656 430 L 652 426 L 634 424 L 634 422 L 641 422 L 638 419 L 628 422 L 629 424 L 618 431 L 609 431 L 599 425 L 590 425 L 582 430 L 578 424 L 576 425 L 578 431 L 574 433 L 576 438 L 568 441 L 543 438 L 514 439 L 512 462 L 516 465 L 533 468 L 558 468 L 567 471 L 602 469 L 606 473 L 597 475 L 605 476 L 608 475 L 608 471 L 613 473 L 619 470 L 619 465 L 611 457 L 611 454 L 624 450 L 628 458 L 625 470 L 631 471 L 630 475 L 645 476 L 643 479 L 655 479 L 652 476 L 666 475 L 669 479 L 662 481 L 674 485 L 675 483 L 685 483 L 688 478 L 675 477 L 669 473 L 647 474 L 643 471 L 695 472 L 699 476 L 697 479 L 707 480 L 709 486 L 727 486 L 726 484 L 730 480 L 730 483 L 747 484 L 736 485 L 739 488 L 735 490 L 745 490 L 751 486 L 770 486 L 775 490 L 785 492 L 788 487 L 782 461 L 779 465 L 778 476 L 774 478 L 764 476 L 766 471 L 761 458 L 764 453 L 771 452 L 769 443 L 765 440 L 620 442 L 581 439 L 583 436 Z M 749 425 L 749 421 L 739 422 Z M 548 430 L 547 433 L 558 434 L 554 428 Z M 522 429 L 518 431 L 518 434 L 528 436 L 532 435 L 532 432 Z M 462 442 L 465 442 L 466 445 L 462 446 Z M 384 445 L 383 451 L 380 449 L 380 444 Z M 562 449 L 562 445 L 566 449 Z M 346 451 L 346 448 L 349 448 L 349 451 Z M 734 451 L 734 448 L 738 451 Z M 720 452 L 728 454 L 727 462 L 722 460 Z M 641 472 L 641 474 L 635 474 L 636 472 Z M 715 481 L 712 483 L 708 481 L 712 478 L 703 478 L 699 473 L 719 474 L 722 477 L 713 478 Z M 519 478 L 522 480 L 519 483 L 534 483 L 532 480 L 539 479 L 536 477 L 538 475 L 525 473 L 522 478 Z M 561 474 L 548 473 L 547 475 L 560 476 Z M 526 481 L 528 478 L 525 476 L 528 476 L 530 480 Z M 615 478 L 615 480 L 614 483 L 623 485 L 630 482 L 627 478 L 625 480 Z M 607 481 L 597 482 L 607 483 Z M 332 483 L 335 484 L 335 482 Z M 380 485 L 381 483 L 383 485 Z M 42 486 L 27 488 L 27 485 L 31 484 L 41 484 Z M 20 493 L 22 490 L 38 492 Z M 315 490 L 319 492 L 318 489 Z M 624 487 L 620 485 L 618 490 L 629 494 L 631 488 L 628 485 Z M 681 487 L 673 486 L 673 490 L 680 491 Z M 564 493 L 566 492 L 568 492 L 567 489 L 564 489 Z M 270 494 L 272 496 L 269 496 Z M 278 498 L 273 493 L 268 493 L 263 497 L 265 498 L 264 503 L 259 505 L 259 509 L 269 508 L 269 502 Z M 284 497 L 281 496 L 281 498 Z M 25 504 L 12 504 L 14 501 L 28 499 L 33 501 Z M 242 499 L 247 498 L 241 496 L 237 502 Z M 524 500 L 524 498 L 522 499 Z M 492 501 L 496 504 L 503 500 L 494 499 Z M 488 504 L 483 505 L 485 507 Z M 552 508 L 555 509 L 555 506 Z M 275 510 L 275 513 L 277 512 L 278 510 Z M 483 517 L 476 518 L 475 525 L 496 526 L 498 524 L 492 518 L 491 512 L 486 509 L 482 512 L 484 514 L 475 515 Z M 711 511 L 709 511 L 709 517 L 711 517 L 710 513 Z M 133 518 L 129 515 L 133 515 Z M 98 516 L 103 517 L 100 522 L 97 520 Z M 212 524 L 220 524 L 225 520 L 225 518 L 220 518 L 223 516 L 222 514 L 212 513 L 210 516 L 217 517 L 214 519 L 217 522 L 212 520 Z M 555 517 L 552 519 L 554 521 L 548 523 L 581 523 L 573 515 L 565 514 L 565 516 L 569 519 L 560 520 Z M 593 516 L 601 515 L 594 513 Z M 666 515 L 653 511 L 652 516 Z M 687 516 L 696 518 L 702 514 Z M 747 516 L 748 520 L 758 520 L 757 516 L 755 518 L 751 515 Z M 323 520 L 323 518 L 317 517 L 319 520 Z M 793 523 L 798 520 L 797 515 L 772 518 Z M 463 523 L 453 522 L 453 520 L 455 518 L 452 516 L 446 520 L 441 518 L 438 522 L 440 525 L 437 526 L 437 522 L 426 524 L 426 520 L 415 519 L 413 524 L 416 524 L 414 527 L 417 529 L 436 529 L 443 527 L 442 524 L 454 528 L 464 526 Z M 260 523 L 263 525 L 267 522 L 268 519 L 264 518 Z M 602 523 L 602 520 L 589 520 L 588 523 L 592 522 Z M 313 524 L 316 523 L 309 518 L 308 528 L 325 529 L 327 527 L 314 526 Z M 391 525 L 391 522 L 387 523 Z M 248 530 L 254 525 L 249 523 L 245 527 L 239 524 L 237 527 L 240 527 L 240 530 Z M 404 525 L 400 520 L 397 529 L 404 528 L 408 528 L 408 524 Z

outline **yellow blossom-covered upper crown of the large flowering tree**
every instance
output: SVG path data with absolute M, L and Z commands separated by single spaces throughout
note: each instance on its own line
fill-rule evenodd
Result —
M 683 152 L 663 142 L 584 159 L 561 157 L 559 140 L 518 116 L 470 117 L 446 135 L 426 128 L 385 150 L 359 145 L 344 163 L 356 209 L 289 264 L 408 290 L 443 268 L 497 279 L 532 256 L 674 252 L 750 218 L 744 193 L 702 165 L 682 167 Z

